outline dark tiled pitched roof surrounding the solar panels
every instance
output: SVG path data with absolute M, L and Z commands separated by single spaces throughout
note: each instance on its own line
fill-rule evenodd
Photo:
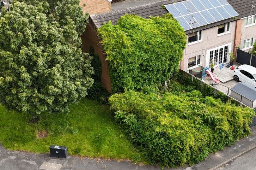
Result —
M 184 1 L 184 0 L 162 0 L 162 1 L 147 3 L 147 4 L 135 6 L 135 7 L 114 10 L 114 11 L 101 13 L 101 14 L 90 15 L 90 19 L 93 21 L 96 28 L 101 27 L 103 23 L 107 23 L 108 21 L 112 21 L 113 24 L 116 24 L 118 19 L 125 14 L 135 14 L 148 19 L 149 16 L 161 16 L 161 15 L 167 14 L 168 13 L 167 9 L 162 9 L 162 5 L 167 5 L 167 4 L 180 2 L 180 1 Z M 194 28 L 191 31 L 193 32 L 200 31 L 200 30 L 218 26 L 227 22 L 235 21 L 237 19 L 241 19 L 250 14 L 252 5 L 256 5 L 254 0 L 227 0 L 227 1 L 239 14 L 237 18 L 229 18 L 226 20 L 214 22 L 212 24 Z M 253 14 L 256 14 L 256 8 L 253 8 L 251 15 Z M 189 33 L 189 31 L 186 31 L 186 33 Z

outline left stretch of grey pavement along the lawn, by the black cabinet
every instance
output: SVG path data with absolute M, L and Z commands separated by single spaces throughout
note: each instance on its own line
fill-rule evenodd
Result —
M 0 145 L 0 170 L 160 170 L 159 166 L 140 166 L 131 161 L 115 161 L 68 156 L 52 158 L 49 154 L 34 154 L 20 151 L 9 151 Z

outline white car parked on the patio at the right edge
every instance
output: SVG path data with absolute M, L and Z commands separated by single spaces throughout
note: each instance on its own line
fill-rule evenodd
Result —
M 256 87 L 256 68 L 247 64 L 237 67 L 233 72 L 235 81 L 241 81 Z

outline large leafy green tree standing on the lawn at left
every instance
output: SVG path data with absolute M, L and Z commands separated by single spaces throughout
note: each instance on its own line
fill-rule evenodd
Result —
M 78 0 L 14 1 L 0 16 L 0 101 L 35 116 L 68 112 L 93 84 Z

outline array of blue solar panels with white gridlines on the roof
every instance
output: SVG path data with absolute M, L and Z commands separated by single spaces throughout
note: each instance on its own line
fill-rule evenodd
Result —
M 186 0 L 165 7 L 185 31 L 238 16 L 227 0 Z

